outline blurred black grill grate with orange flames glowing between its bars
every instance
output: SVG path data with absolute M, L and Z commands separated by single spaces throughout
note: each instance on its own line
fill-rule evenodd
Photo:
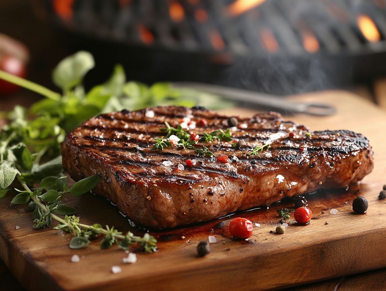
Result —
M 386 48 L 385 0 L 47 0 L 47 7 L 73 31 L 177 51 L 242 56 Z

